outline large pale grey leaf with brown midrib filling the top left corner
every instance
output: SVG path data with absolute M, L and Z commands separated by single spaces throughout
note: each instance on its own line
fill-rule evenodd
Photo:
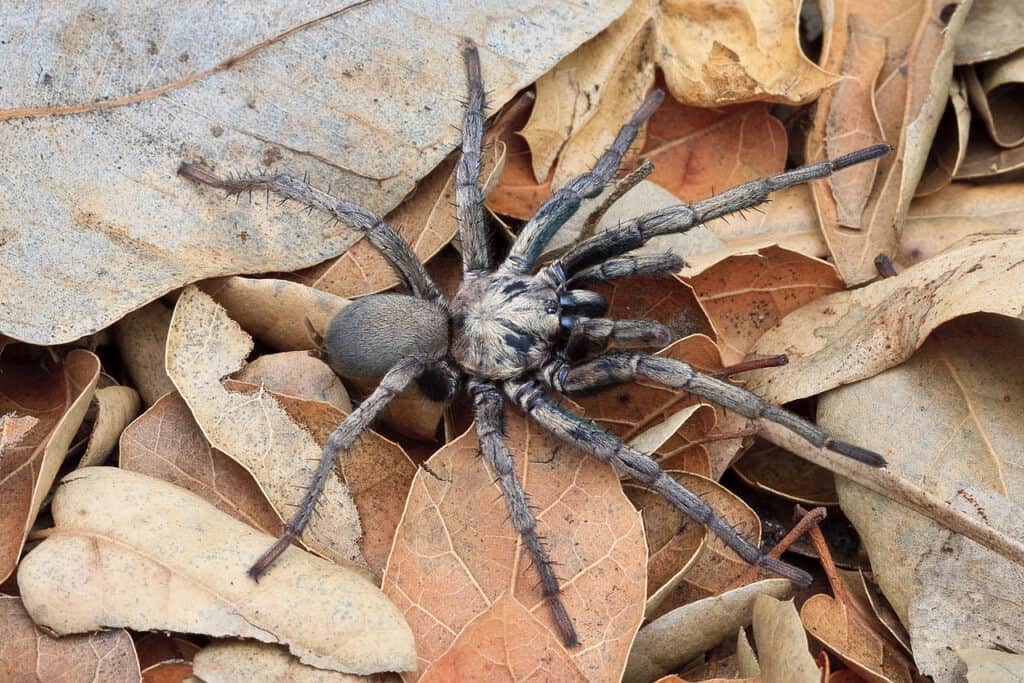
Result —
M 467 38 L 481 46 L 500 105 L 626 6 L 314 0 L 227 13 L 210 2 L 155 3 L 144 16 L 110 3 L 8 12 L 0 63 L 15 87 L 0 95 L 9 179 L 0 232 L 17 256 L 0 272 L 9 304 L 0 331 L 70 341 L 202 278 L 336 256 L 361 233 L 264 207 L 260 194 L 257 210 L 237 207 L 175 169 L 197 160 L 224 173 L 287 168 L 385 213 L 458 143 Z

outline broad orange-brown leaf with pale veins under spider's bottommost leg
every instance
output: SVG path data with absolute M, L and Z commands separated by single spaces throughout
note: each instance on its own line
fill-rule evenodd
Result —
M 536 569 L 470 430 L 417 473 L 388 559 L 384 591 L 417 634 L 419 673 L 410 679 L 434 676 L 435 667 L 477 671 L 500 627 L 509 647 L 548 633 L 574 676 L 618 680 L 643 617 L 647 553 L 640 516 L 610 467 L 511 411 L 505 426 L 584 646 L 566 651 L 561 645 Z M 445 652 L 453 655 L 444 658 Z M 503 676 L 520 680 L 531 668 L 513 654 Z M 532 650 L 528 656 L 536 663 Z

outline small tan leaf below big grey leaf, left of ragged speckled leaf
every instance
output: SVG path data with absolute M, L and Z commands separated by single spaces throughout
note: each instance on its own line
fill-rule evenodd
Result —
M 158 300 L 128 313 L 114 326 L 118 353 L 146 408 L 168 391 L 174 391 L 174 383 L 164 369 L 170 324 L 170 308 Z

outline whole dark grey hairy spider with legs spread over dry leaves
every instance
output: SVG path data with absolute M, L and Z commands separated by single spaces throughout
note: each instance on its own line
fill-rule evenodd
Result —
M 504 439 L 506 400 L 517 404 L 551 433 L 658 492 L 684 514 L 706 524 L 751 564 L 798 584 L 809 584 L 807 572 L 765 556 L 720 519 L 703 500 L 666 474 L 650 456 L 560 408 L 547 391 L 585 392 L 645 377 L 703 396 L 748 418 L 778 423 L 815 446 L 874 467 L 884 466 L 878 454 L 835 439 L 807 420 L 729 382 L 698 373 L 685 362 L 629 350 L 602 352 L 610 341 L 664 345 L 671 335 L 656 322 L 601 317 L 605 302 L 599 295 L 580 288 L 614 278 L 675 272 L 683 262 L 673 254 L 630 256 L 627 252 L 653 237 L 682 232 L 755 207 L 776 189 L 827 177 L 881 157 L 891 147 L 866 147 L 833 161 L 754 180 L 692 205 L 680 204 L 644 214 L 579 242 L 554 262 L 536 269 L 544 247 L 581 202 L 598 196 L 611 180 L 640 127 L 662 102 L 664 95 L 655 90 L 620 130 L 593 170 L 554 193 L 519 232 L 505 260 L 494 268 L 479 187 L 484 121 L 480 62 L 472 45 L 466 47 L 464 57 L 469 99 L 456 189 L 464 279 L 451 302 L 438 291 L 409 245 L 366 209 L 289 175 L 223 179 L 197 166 L 181 165 L 182 175 L 228 194 L 265 188 L 286 200 L 322 209 L 364 231 L 410 292 L 358 299 L 331 321 L 323 338 L 317 336 L 323 357 L 338 375 L 379 379 L 380 384 L 331 434 L 298 512 L 282 538 L 252 565 L 250 575 L 256 579 L 263 573 L 302 532 L 338 455 L 351 446 L 391 398 L 416 381 L 431 400 L 451 400 L 462 385 L 471 394 L 480 452 L 497 474 L 512 525 L 541 575 L 543 593 L 566 646 L 575 646 L 579 640 L 559 598 L 558 579 L 537 533 L 534 513 Z

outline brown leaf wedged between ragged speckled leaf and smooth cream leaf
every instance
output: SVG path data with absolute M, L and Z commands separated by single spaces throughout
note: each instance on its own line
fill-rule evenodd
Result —
M 123 469 L 187 488 L 264 533 L 280 536 L 285 530 L 252 474 L 210 445 L 177 391 L 125 429 L 120 454 Z

